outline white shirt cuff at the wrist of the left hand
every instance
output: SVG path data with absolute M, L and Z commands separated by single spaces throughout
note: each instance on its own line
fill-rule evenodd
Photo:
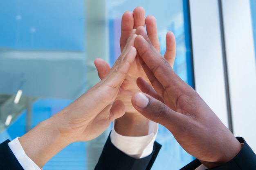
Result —
M 9 147 L 11 148 L 11 151 L 15 155 L 15 157 L 18 159 L 20 165 L 25 170 L 42 170 L 39 168 L 34 161 L 32 161 L 25 151 L 23 150 L 22 146 L 20 145 L 20 141 L 18 140 L 18 137 L 15 138 L 13 141 L 8 143 Z

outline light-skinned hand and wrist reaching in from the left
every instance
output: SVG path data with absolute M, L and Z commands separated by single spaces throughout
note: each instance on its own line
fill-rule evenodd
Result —
M 124 103 L 115 98 L 136 56 L 136 49 L 132 47 L 136 36 L 133 30 L 120 57 L 103 80 L 19 138 L 25 153 L 39 167 L 70 143 L 96 138 L 113 120 L 124 115 Z

